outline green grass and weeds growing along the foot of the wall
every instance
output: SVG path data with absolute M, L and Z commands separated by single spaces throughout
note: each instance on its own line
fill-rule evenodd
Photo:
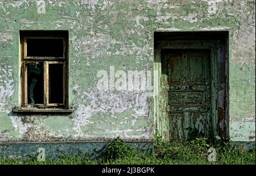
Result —
M 208 161 L 208 148 L 216 148 L 216 161 Z M 141 151 L 123 144 L 117 138 L 109 141 L 104 152 L 98 156 L 81 155 L 67 157 L 63 156 L 55 160 L 46 158 L 46 161 L 38 161 L 37 158 L 24 160 L 0 157 L 0 165 L 255 165 L 255 148 L 243 150 L 230 145 L 230 143 L 209 144 L 207 138 L 198 138 L 193 141 L 174 141 L 166 143 L 156 139 L 152 152 Z

